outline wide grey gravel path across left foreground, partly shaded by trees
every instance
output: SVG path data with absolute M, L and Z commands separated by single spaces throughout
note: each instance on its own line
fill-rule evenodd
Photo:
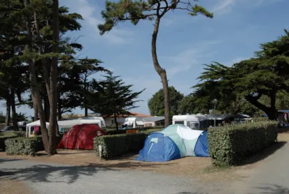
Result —
M 142 171 L 106 170 L 0 159 L 0 180 L 22 181 L 31 193 L 222 193 L 217 185 Z M 221 186 L 220 186 L 221 187 Z M 32 192 L 33 191 L 33 192 Z

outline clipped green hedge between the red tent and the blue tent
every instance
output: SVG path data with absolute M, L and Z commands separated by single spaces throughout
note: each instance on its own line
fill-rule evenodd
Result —
M 146 137 L 160 128 L 148 129 L 141 133 L 130 133 L 120 135 L 104 135 L 94 138 L 95 154 L 99 156 L 98 146 L 102 146 L 102 158 L 111 159 L 115 156 L 140 151 Z

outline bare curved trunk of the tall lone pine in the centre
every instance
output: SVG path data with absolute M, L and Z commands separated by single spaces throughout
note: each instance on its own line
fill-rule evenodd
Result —
M 153 65 L 155 70 L 159 74 L 162 80 L 162 87 L 164 90 L 164 126 L 169 126 L 170 124 L 170 97 L 169 97 L 169 84 L 166 78 L 166 70 L 159 66 L 159 61 L 157 60 L 157 33 L 159 33 L 159 22 L 161 17 L 157 17 L 155 20 L 155 28 L 153 30 L 152 37 L 152 56 L 153 56 Z

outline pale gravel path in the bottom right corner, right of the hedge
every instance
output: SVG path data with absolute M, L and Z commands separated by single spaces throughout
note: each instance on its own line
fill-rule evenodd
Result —
M 247 175 L 247 179 L 232 184 L 233 193 L 289 194 L 289 142 Z

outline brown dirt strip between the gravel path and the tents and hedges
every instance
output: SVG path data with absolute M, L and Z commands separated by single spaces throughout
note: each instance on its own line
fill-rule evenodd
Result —
M 45 163 L 63 163 L 68 165 L 102 167 L 114 170 L 144 170 L 157 173 L 173 174 L 194 177 L 200 181 L 234 181 L 246 176 L 248 170 L 262 162 L 283 144 L 289 142 L 289 132 L 279 133 L 279 143 L 253 156 L 238 167 L 220 169 L 212 166 L 210 158 L 187 157 L 166 163 L 148 163 L 134 161 L 137 155 L 123 156 L 111 161 L 104 161 L 95 156 L 94 151 L 58 149 L 58 154 L 46 156 L 44 151 L 38 152 L 38 156 L 6 156 L 0 152 L 0 158 L 22 158 Z M 246 172 L 246 173 L 245 173 Z

